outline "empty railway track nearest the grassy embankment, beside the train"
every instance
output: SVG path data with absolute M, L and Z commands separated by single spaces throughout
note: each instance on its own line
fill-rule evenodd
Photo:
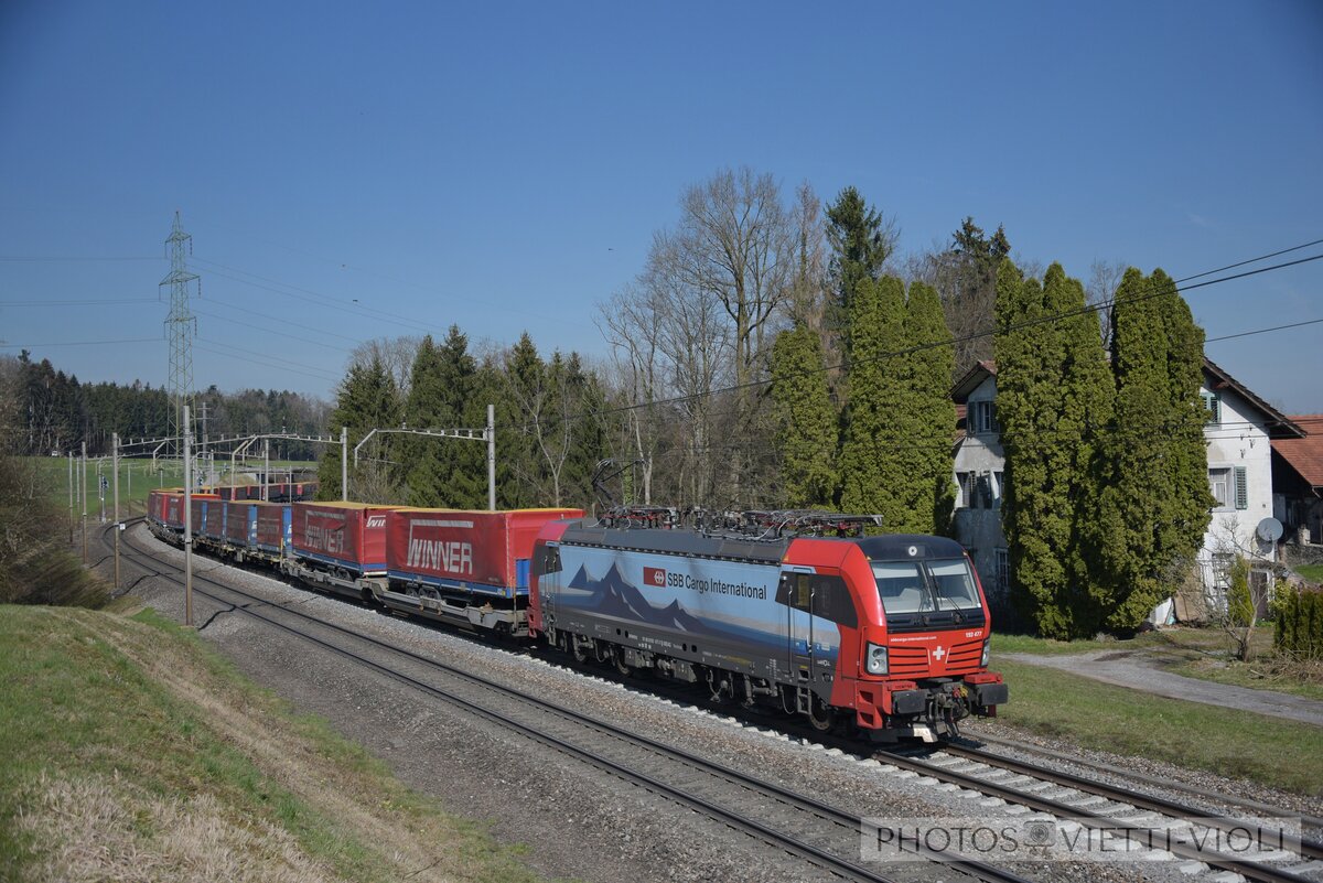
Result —
M 177 568 L 160 562 L 136 539 L 126 538 L 124 545 L 130 549 L 127 557 L 152 575 L 173 579 L 179 574 Z M 156 570 L 159 567 L 169 570 Z M 643 787 L 777 850 L 796 855 L 833 876 L 878 883 L 896 880 L 884 875 L 881 866 L 871 867 L 860 862 L 864 818 L 859 814 L 303 611 L 273 605 L 269 599 L 206 575 L 194 574 L 193 584 L 194 592 L 228 609 L 261 620 L 531 742 Z M 217 592 L 198 588 L 198 584 L 245 599 L 245 603 L 234 604 Z M 351 649 L 345 642 L 356 646 Z M 942 862 L 943 871 L 957 871 L 970 879 L 1024 883 L 1017 874 L 992 864 L 954 859 L 937 851 L 929 855 Z M 916 871 L 922 867 L 910 866 Z M 919 872 L 918 876 L 925 875 Z

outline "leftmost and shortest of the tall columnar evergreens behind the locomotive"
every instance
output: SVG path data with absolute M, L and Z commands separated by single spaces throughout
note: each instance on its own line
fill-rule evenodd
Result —
M 822 340 L 808 325 L 781 332 L 771 348 L 771 398 L 781 453 L 781 498 L 791 509 L 831 506 L 836 489 L 836 408 Z

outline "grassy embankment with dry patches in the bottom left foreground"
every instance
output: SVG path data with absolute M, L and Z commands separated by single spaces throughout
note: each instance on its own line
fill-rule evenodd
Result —
M 197 637 L 132 620 L 0 607 L 0 879 L 536 879 Z

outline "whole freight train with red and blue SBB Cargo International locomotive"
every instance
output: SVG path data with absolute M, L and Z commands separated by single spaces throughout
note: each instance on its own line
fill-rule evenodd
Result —
M 233 493 L 229 496 L 234 496 Z M 180 543 L 183 492 L 153 492 Z M 968 555 L 865 537 L 871 517 L 662 509 L 468 512 L 193 494 L 194 545 L 384 608 L 545 641 L 605 664 L 875 742 L 959 735 L 1007 702 Z

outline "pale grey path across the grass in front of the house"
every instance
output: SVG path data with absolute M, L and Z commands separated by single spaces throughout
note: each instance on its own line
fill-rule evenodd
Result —
M 1253 690 L 1171 674 L 1142 652 L 1094 650 L 1072 656 L 1039 656 L 1035 653 L 1000 653 L 998 656 L 1012 662 L 1061 669 L 1103 683 L 1144 690 L 1172 699 L 1242 709 L 1323 727 L 1323 702 L 1287 693 Z

